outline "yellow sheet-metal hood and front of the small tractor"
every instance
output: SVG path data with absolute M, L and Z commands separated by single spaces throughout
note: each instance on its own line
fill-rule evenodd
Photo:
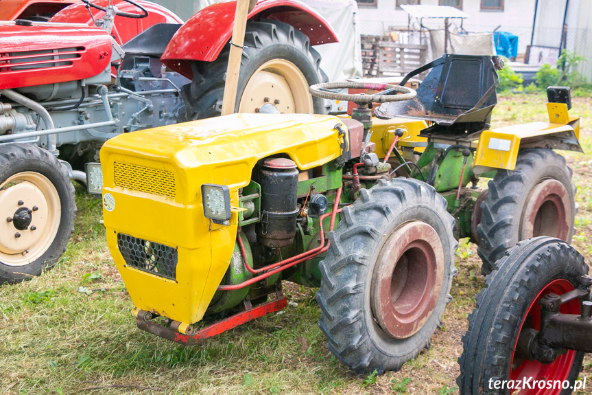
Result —
M 229 225 L 211 223 L 201 185 L 228 185 L 238 207 L 260 159 L 285 154 L 306 170 L 338 158 L 336 125 L 346 129 L 329 115 L 235 114 L 108 140 L 104 223 L 134 305 L 185 324 L 202 319 L 233 253 L 237 212 Z M 174 267 L 157 272 L 152 256 Z

